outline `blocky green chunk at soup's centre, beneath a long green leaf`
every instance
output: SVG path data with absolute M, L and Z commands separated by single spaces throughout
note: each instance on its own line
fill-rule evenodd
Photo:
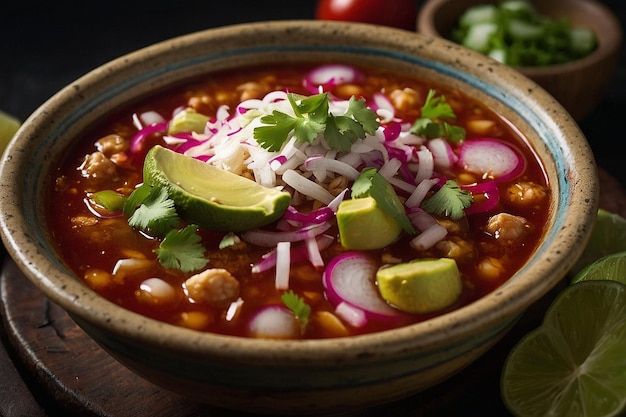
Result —
M 337 226 L 346 249 L 384 248 L 402 232 L 400 223 L 387 215 L 373 197 L 342 201 L 337 208 Z

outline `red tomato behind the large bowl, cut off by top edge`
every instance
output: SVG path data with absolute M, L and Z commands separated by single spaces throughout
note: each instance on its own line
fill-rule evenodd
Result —
M 319 0 L 315 16 L 415 31 L 417 4 L 416 0 Z

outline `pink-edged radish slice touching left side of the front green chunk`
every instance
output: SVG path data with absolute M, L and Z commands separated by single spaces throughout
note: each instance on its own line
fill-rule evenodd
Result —
M 349 251 L 336 256 L 322 277 L 326 297 L 335 308 L 346 303 L 363 310 L 371 320 L 397 318 L 400 312 L 389 306 L 376 289 L 377 270 L 374 260 L 362 252 Z

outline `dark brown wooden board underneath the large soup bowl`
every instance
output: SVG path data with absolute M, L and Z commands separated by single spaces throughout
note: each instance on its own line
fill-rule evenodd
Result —
M 604 170 L 601 207 L 626 217 L 626 194 Z M 509 415 L 500 399 L 502 364 L 519 338 L 537 327 L 557 286 L 514 328 L 456 376 L 359 416 Z M 136 376 L 89 338 L 5 259 L 0 273 L 0 416 L 242 416 L 190 402 Z

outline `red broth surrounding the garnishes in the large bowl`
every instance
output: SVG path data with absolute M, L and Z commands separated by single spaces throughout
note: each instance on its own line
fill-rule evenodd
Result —
M 54 184 L 48 188 L 47 222 L 65 264 L 85 285 L 128 310 L 200 331 L 252 337 L 249 329 L 252 317 L 264 306 L 282 305 L 281 296 L 285 292 L 276 289 L 274 268 L 261 273 L 251 271 L 251 266 L 270 249 L 245 242 L 220 249 L 225 233 L 200 231 L 209 259 L 206 268 L 227 270 L 237 281 L 237 288 L 219 302 L 198 302 L 189 296 L 185 281 L 199 271 L 181 272 L 163 267 L 154 252 L 160 239 L 129 226 L 126 216 L 102 210 L 90 197 L 102 190 L 130 195 L 142 182 L 147 150 L 156 144 L 172 146 L 166 143 L 163 134 L 157 133 L 144 141 L 141 150 L 131 152 L 130 141 L 138 132 L 133 122 L 137 115 L 156 112 L 169 119 L 176 109 L 191 106 L 213 118 L 220 106 L 228 105 L 232 111 L 244 99 L 262 98 L 274 90 L 311 95 L 303 86 L 303 77 L 311 68 L 247 68 L 211 74 L 119 109 L 81 135 L 59 161 L 52 175 Z M 498 183 L 500 200 L 493 209 L 455 221 L 435 216 L 448 229 L 447 236 L 435 246 L 415 250 L 410 245 L 414 236 L 404 234 L 386 248 L 368 251 L 368 256 L 381 266 L 416 258 L 452 257 L 457 261 L 463 283 L 462 294 L 454 304 L 426 314 L 400 312 L 392 321 L 369 319 L 365 324 L 350 324 L 336 313 L 325 295 L 323 268 L 316 268 L 306 260 L 293 262 L 289 290 L 304 300 L 311 314 L 304 330 L 289 337 L 313 339 L 377 332 L 428 320 L 467 305 L 501 286 L 526 262 L 537 247 L 547 221 L 549 187 L 541 162 L 510 123 L 460 91 L 387 71 L 370 68 L 359 71 L 364 75 L 362 79 L 327 87 L 327 91 L 343 99 L 355 95 L 368 100 L 376 93 L 384 93 L 395 106 L 396 118 L 413 123 L 420 117 L 429 90 L 434 89 L 452 106 L 456 119 L 449 122 L 466 129 L 466 140 L 490 137 L 512 144 L 526 166 L 517 177 Z M 458 152 L 458 145 L 453 145 L 453 149 Z M 459 184 L 485 180 L 456 165 L 447 175 Z M 337 183 L 332 191 L 334 195 L 350 187 L 350 181 Z M 398 192 L 398 195 L 407 198 L 406 193 Z M 298 208 L 305 211 L 319 206 L 323 204 L 308 201 Z M 490 219 L 503 212 L 525 219 L 527 227 L 519 239 L 505 239 L 501 235 L 506 230 L 494 231 L 488 226 Z M 326 234 L 335 237 L 336 225 Z M 335 241 L 322 252 L 324 264 L 344 251 Z M 128 268 L 119 265 L 116 268 L 121 259 L 127 260 Z M 160 281 L 146 284 L 150 278 Z M 161 285 L 163 282 L 167 284 Z M 217 282 L 217 286 L 232 284 L 232 281 L 219 283 L 219 279 Z

